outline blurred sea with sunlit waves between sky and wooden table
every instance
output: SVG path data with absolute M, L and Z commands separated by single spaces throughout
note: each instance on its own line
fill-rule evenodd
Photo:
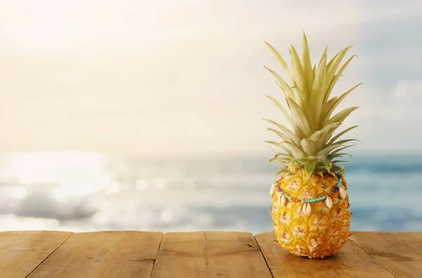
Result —
M 280 167 L 269 156 L 1 156 L 0 231 L 268 232 L 269 189 Z M 350 229 L 422 232 L 422 156 L 350 160 Z

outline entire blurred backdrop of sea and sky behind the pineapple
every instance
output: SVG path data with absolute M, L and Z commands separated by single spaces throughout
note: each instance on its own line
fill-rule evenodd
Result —
M 352 230 L 422 232 L 422 2 L 0 2 L 0 231 L 272 229 L 264 95 L 307 33 L 354 45 L 333 94 Z

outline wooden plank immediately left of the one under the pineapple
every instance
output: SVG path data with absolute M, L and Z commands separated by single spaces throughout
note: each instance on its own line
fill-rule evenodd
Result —
M 272 277 L 247 232 L 164 234 L 152 278 Z

